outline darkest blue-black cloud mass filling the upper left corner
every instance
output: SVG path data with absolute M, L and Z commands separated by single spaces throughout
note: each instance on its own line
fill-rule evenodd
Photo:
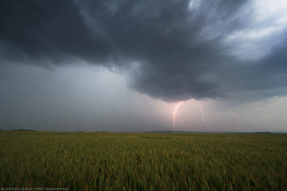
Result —
M 111 42 L 87 27 L 72 1 L 1 1 L 1 57 L 18 62 L 61 64 L 80 58 L 105 62 Z

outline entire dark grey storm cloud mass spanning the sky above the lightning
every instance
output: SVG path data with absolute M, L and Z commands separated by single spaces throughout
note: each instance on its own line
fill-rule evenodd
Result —
M 130 87 L 167 102 L 284 88 L 286 41 L 255 61 L 230 54 L 237 44 L 224 43 L 253 19 L 253 10 L 238 15 L 245 3 L 2 1 L 1 57 L 37 64 L 74 58 L 121 64 Z

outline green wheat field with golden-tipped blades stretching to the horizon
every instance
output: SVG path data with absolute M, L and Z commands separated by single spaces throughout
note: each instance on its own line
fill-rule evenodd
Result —
M 287 135 L 0 131 L 0 187 L 287 190 Z

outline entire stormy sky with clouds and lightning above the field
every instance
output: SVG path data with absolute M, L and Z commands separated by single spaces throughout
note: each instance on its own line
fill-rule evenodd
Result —
M 285 0 L 4 0 L 0 23 L 2 130 L 287 132 Z

